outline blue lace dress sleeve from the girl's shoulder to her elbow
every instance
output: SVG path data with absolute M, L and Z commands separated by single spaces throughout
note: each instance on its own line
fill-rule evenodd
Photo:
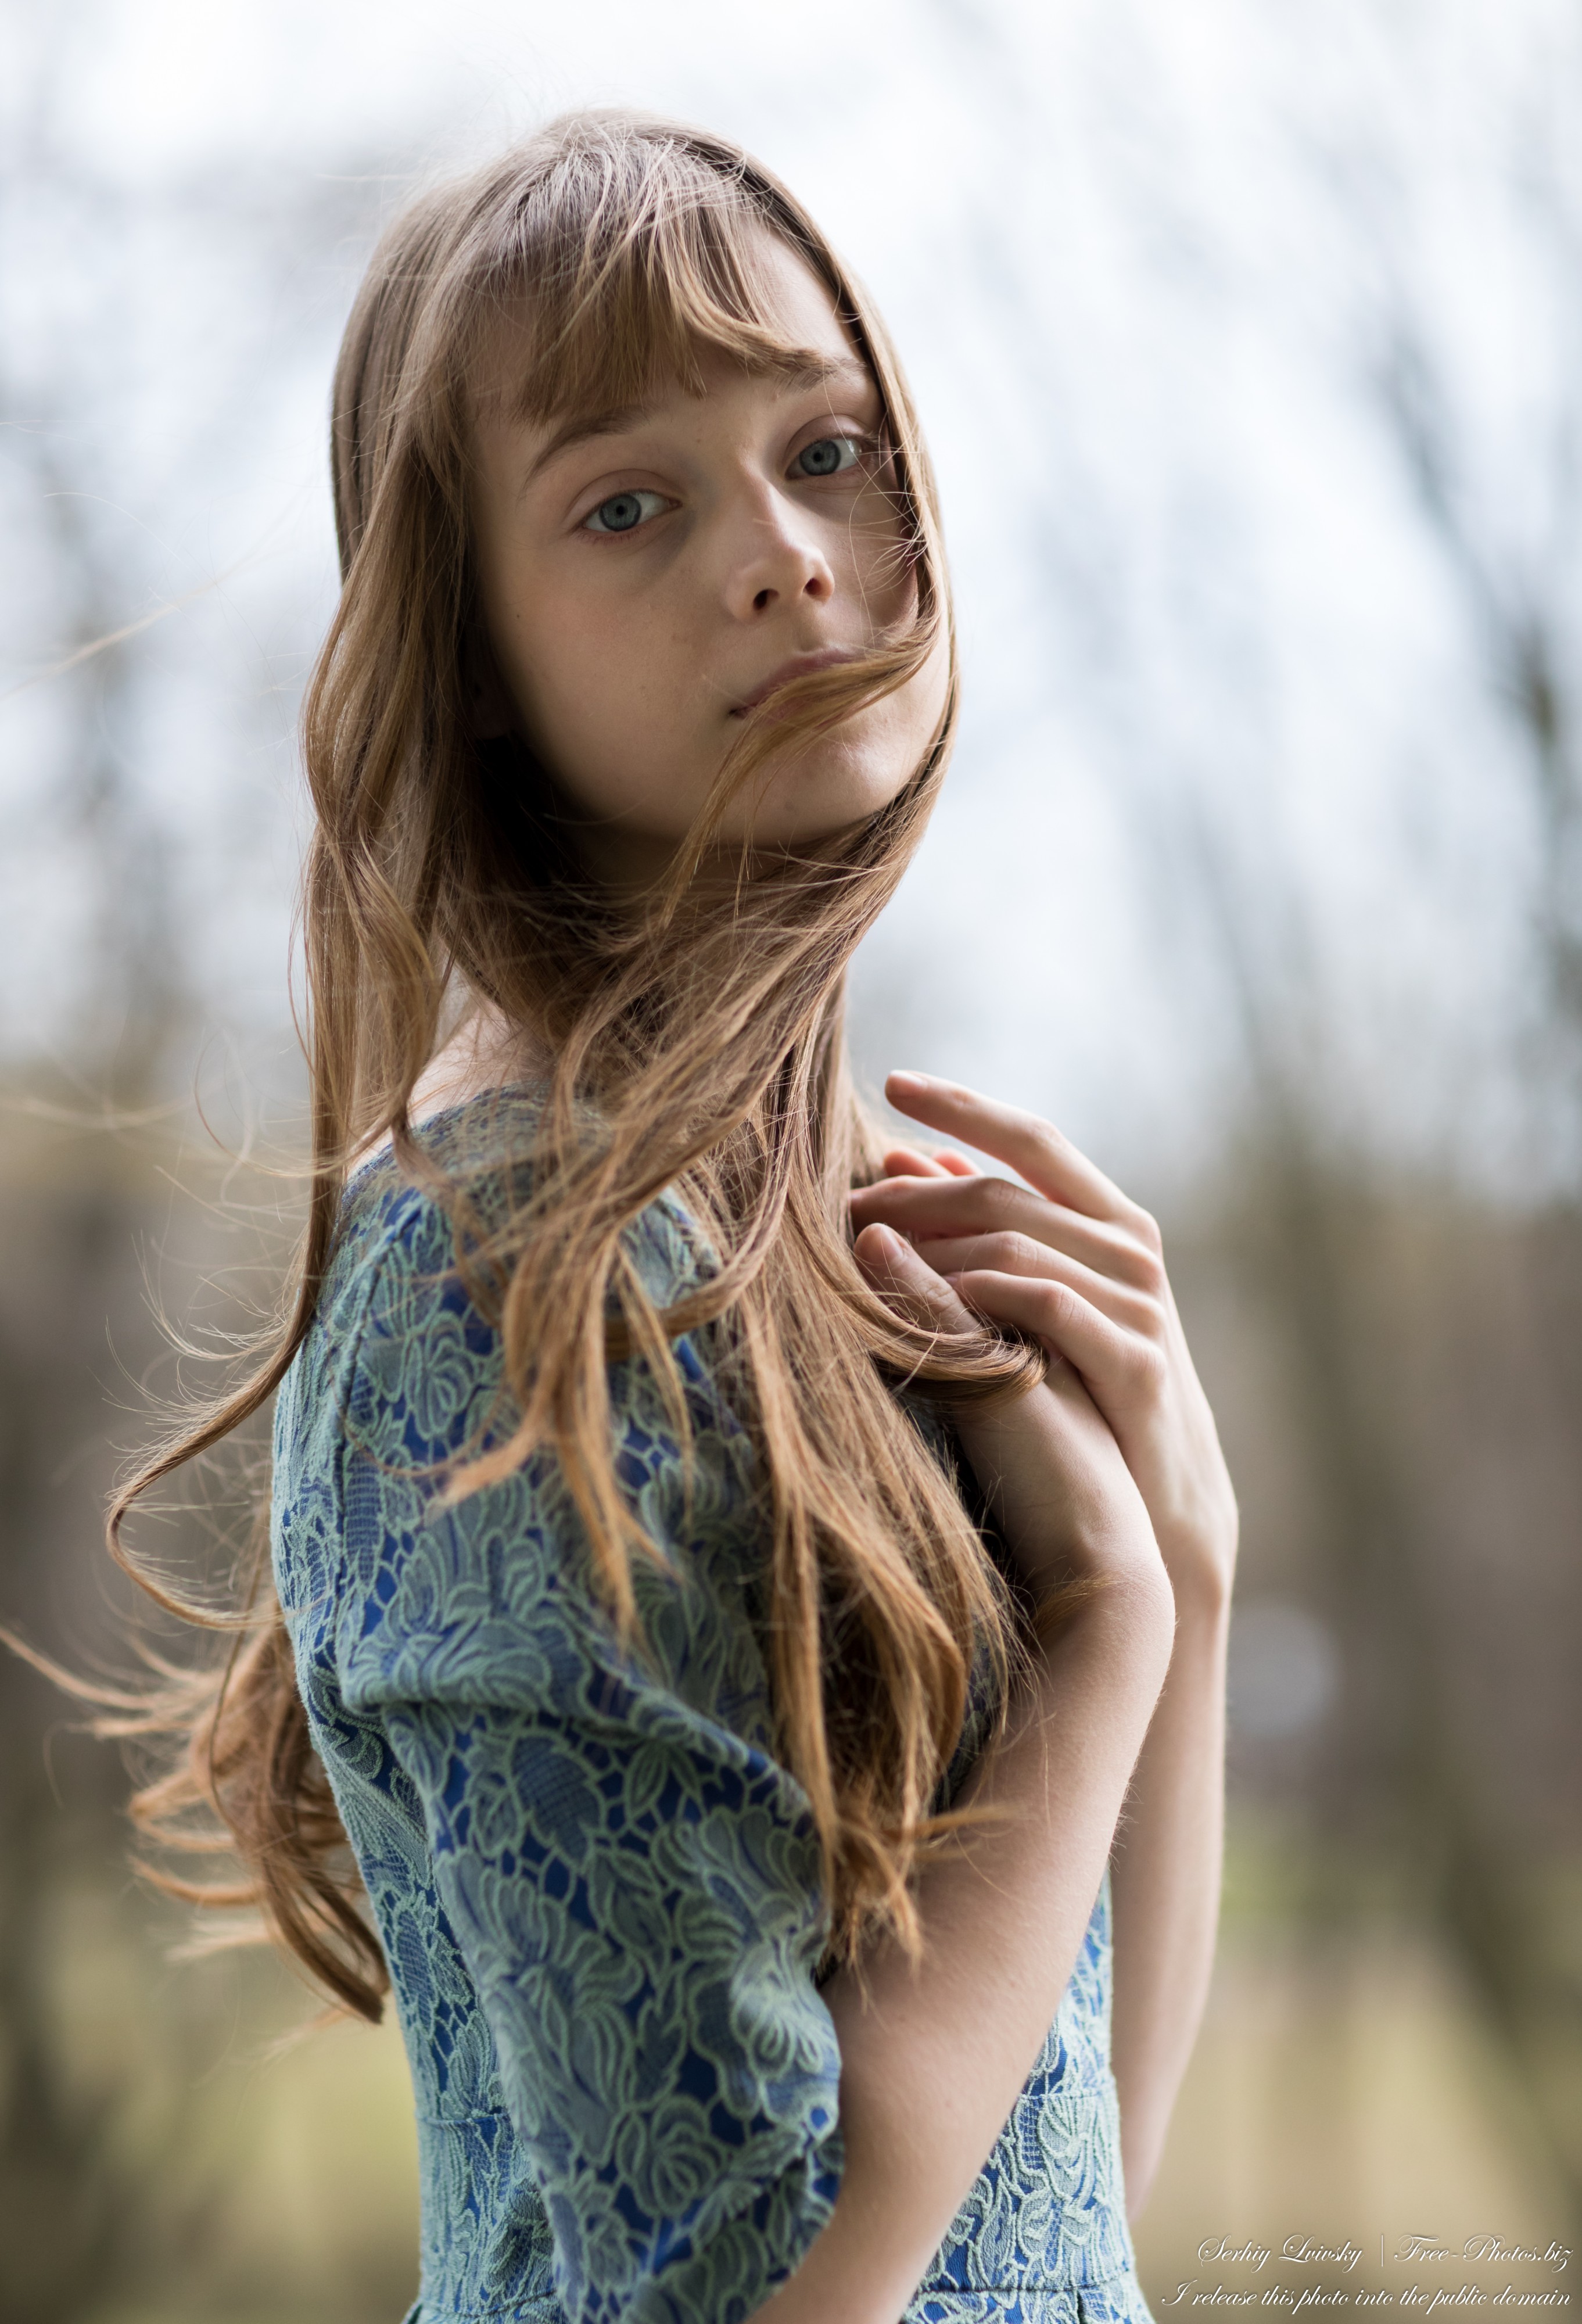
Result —
M 639 1229 L 650 1274 L 678 1229 Z M 818 1843 L 748 1613 L 750 1448 L 681 1341 L 688 1487 L 646 1367 L 611 1367 L 618 1478 L 669 1555 L 637 1559 L 650 1655 L 623 1652 L 553 1457 L 437 1506 L 432 1464 L 488 1441 L 499 1390 L 444 1246 L 430 1218 L 386 1253 L 346 1376 L 341 1687 L 420 1806 L 569 2317 L 736 2324 L 841 2175 Z

